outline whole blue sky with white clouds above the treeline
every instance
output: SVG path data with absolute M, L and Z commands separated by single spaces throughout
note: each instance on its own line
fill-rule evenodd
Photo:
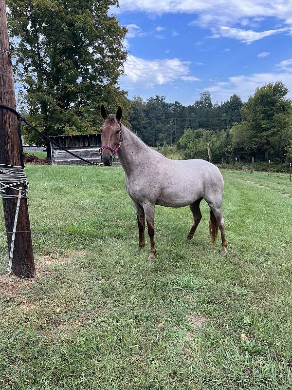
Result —
M 128 27 L 128 97 L 156 94 L 193 103 L 282 80 L 292 90 L 292 0 L 120 0 L 111 9 Z M 292 93 L 289 93 L 292 98 Z

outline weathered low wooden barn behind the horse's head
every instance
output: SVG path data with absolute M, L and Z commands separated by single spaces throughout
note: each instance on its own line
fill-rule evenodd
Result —
M 58 136 L 52 137 L 63 148 L 68 149 L 75 155 L 92 162 L 100 163 L 99 148 L 101 147 L 101 134 L 83 134 L 80 136 Z M 52 165 L 77 165 L 86 164 L 84 161 L 71 156 L 63 149 L 58 148 L 51 142 Z M 113 165 L 118 165 L 119 159 L 116 156 Z

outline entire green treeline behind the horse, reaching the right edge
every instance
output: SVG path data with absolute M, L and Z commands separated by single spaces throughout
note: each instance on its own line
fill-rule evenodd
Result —
M 130 121 L 148 145 L 177 144 L 183 158 L 204 158 L 214 162 L 292 159 L 292 102 L 280 82 L 256 88 L 243 103 L 233 95 L 222 104 L 212 104 L 204 92 L 194 104 L 166 103 L 156 96 L 147 101 L 135 97 Z M 176 120 L 175 120 L 176 118 Z

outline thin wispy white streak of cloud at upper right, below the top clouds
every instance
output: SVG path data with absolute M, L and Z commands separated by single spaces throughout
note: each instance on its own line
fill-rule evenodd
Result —
M 216 36 L 211 36 L 211 38 L 219 38 L 217 35 L 225 38 L 233 38 L 240 40 L 244 43 L 252 43 L 255 40 L 262 39 L 265 37 L 269 37 L 274 34 L 279 34 L 283 32 L 290 31 L 290 27 L 285 28 L 279 28 L 275 30 L 266 30 L 266 31 L 253 31 L 253 30 L 243 30 L 241 28 L 233 28 L 233 27 L 227 27 L 227 26 L 221 26 L 219 34 L 215 34 Z

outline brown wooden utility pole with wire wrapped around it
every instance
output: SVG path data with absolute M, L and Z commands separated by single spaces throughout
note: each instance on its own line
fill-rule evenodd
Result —
M 6 18 L 6 2 L 0 0 L 0 104 L 16 109 L 14 81 Z M 15 114 L 0 108 L 0 164 L 20 166 L 20 143 L 18 138 L 18 119 Z M 18 191 L 7 189 L 6 194 L 18 195 Z M 8 251 L 10 253 L 17 198 L 3 198 L 5 227 Z M 36 274 L 32 237 L 26 198 L 21 198 L 18 223 L 16 227 L 12 273 L 18 277 L 29 278 Z

